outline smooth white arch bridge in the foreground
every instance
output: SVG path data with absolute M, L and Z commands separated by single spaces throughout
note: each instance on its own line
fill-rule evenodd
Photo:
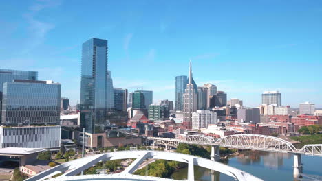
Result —
M 136 158 L 132 162 L 129 167 L 127 167 L 121 173 L 115 174 L 96 174 L 96 175 L 78 175 L 81 171 L 92 167 L 98 162 L 103 162 L 107 160 L 118 160 L 118 159 L 128 159 L 128 158 Z M 162 159 L 162 160 L 173 160 L 178 162 L 185 162 L 188 164 L 188 180 L 195 180 L 193 167 L 194 165 L 198 165 L 200 167 L 204 167 L 207 169 L 211 169 L 214 171 L 218 171 L 220 173 L 224 173 L 228 176 L 231 176 L 240 181 L 252 180 L 252 181 L 262 181 L 261 179 L 250 175 L 244 171 L 239 169 L 235 169 L 234 167 L 230 167 L 228 165 L 224 165 L 220 162 L 215 162 L 213 160 L 208 160 L 205 158 L 200 158 L 197 156 L 191 156 L 187 154 L 179 154 L 172 152 L 156 152 L 156 151 L 122 151 L 122 152 L 110 152 L 105 154 L 97 154 L 94 156 L 87 156 L 85 158 L 80 158 L 77 160 L 72 160 L 70 162 L 65 162 L 62 165 L 57 165 L 52 169 L 48 169 L 39 173 L 36 176 L 28 178 L 28 181 L 36 181 L 36 180 L 46 180 L 48 181 L 64 181 L 64 180 L 90 180 L 90 181 L 98 181 L 98 180 L 164 180 L 170 181 L 173 179 L 168 178 L 157 178 L 151 176 L 138 176 L 133 175 L 134 171 L 138 169 L 139 165 L 147 160 L 148 158 L 154 159 Z M 61 176 L 56 178 L 52 178 L 57 174 L 61 173 Z M 178 180 L 175 180 L 178 181 Z

